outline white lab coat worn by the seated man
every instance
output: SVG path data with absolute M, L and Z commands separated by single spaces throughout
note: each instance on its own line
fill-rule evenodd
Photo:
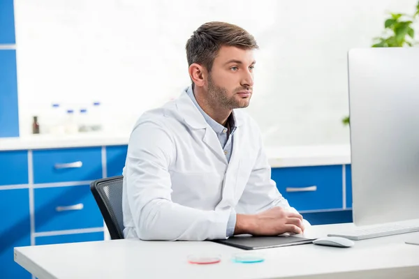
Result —
M 260 130 L 234 110 L 233 154 L 186 91 L 143 114 L 131 134 L 124 167 L 124 236 L 144 240 L 226 239 L 230 213 L 272 206 L 295 211 L 270 179 Z

